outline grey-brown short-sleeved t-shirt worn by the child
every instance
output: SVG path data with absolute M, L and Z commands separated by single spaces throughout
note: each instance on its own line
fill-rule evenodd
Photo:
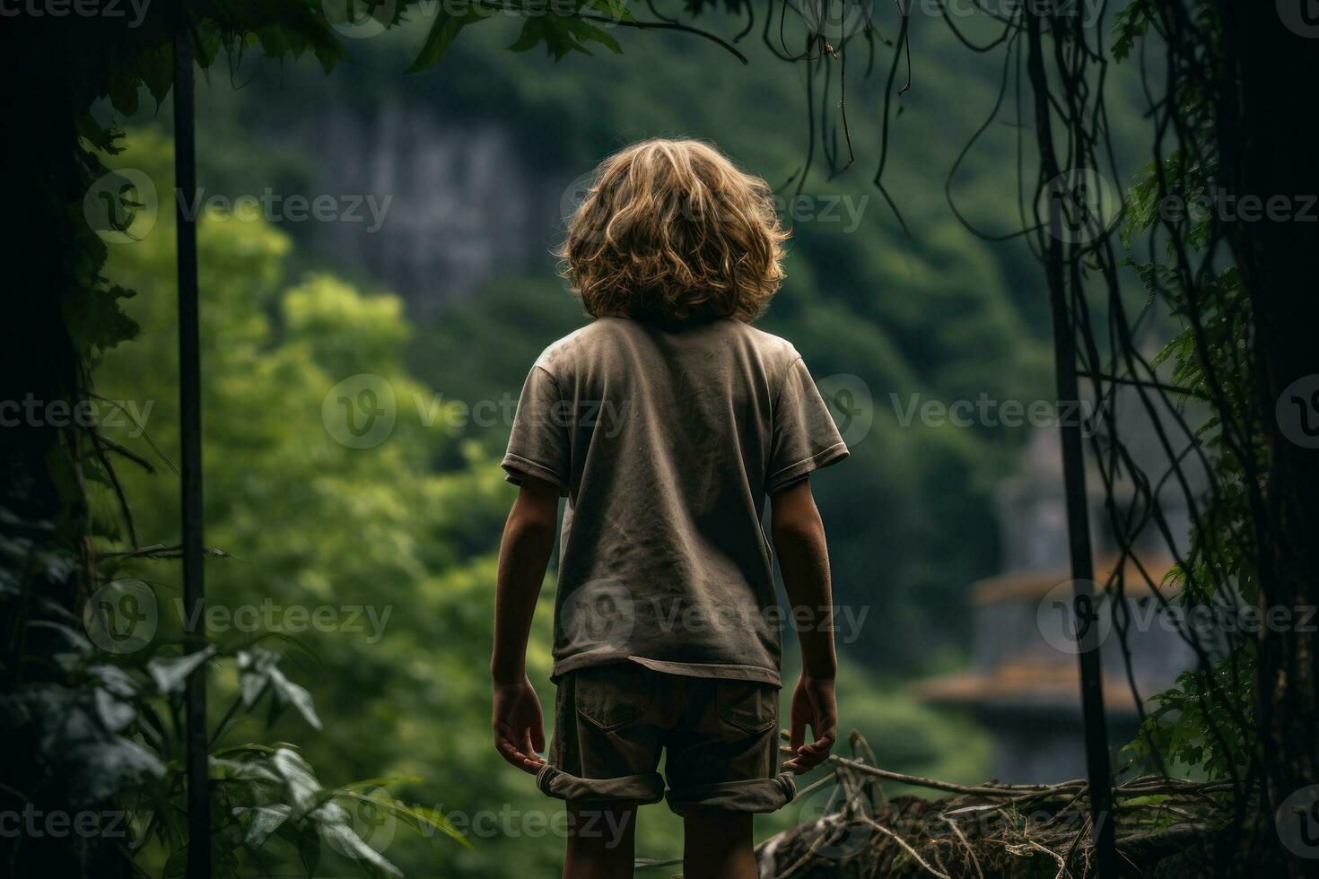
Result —
M 567 496 L 554 669 L 780 684 L 765 496 L 847 457 L 801 354 L 733 319 L 600 318 L 536 361 L 504 456 Z

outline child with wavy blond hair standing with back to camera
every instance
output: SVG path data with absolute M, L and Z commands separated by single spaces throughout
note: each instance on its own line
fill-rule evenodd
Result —
M 541 354 L 518 402 L 491 672 L 496 747 L 567 801 L 571 879 L 630 876 L 636 807 L 661 797 L 685 818 L 686 879 L 754 879 L 752 814 L 791 800 L 791 774 L 834 745 L 828 552 L 807 476 L 847 447 L 793 345 L 751 327 L 785 237 L 764 181 L 685 140 L 605 159 L 568 224 L 566 277 L 595 320 Z M 525 652 L 561 496 L 546 760 Z M 782 767 L 766 496 L 789 600 L 813 614 L 797 621 Z

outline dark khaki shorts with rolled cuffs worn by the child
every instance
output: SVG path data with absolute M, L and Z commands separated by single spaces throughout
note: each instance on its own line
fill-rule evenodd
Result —
M 657 771 L 665 756 L 665 779 Z M 536 778 L 562 800 L 669 801 L 773 812 L 797 793 L 778 772 L 778 688 L 665 675 L 637 663 L 559 679 L 550 759 Z

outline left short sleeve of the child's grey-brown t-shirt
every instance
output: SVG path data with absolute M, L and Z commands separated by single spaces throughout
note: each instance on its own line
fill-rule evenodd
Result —
M 563 411 L 563 395 L 554 376 L 539 365 L 532 366 L 501 463 L 509 482 L 521 485 L 524 476 L 533 476 L 567 493 L 571 453 Z

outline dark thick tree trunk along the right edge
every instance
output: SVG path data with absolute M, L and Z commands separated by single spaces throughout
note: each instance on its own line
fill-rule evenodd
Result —
M 1302 0 L 1285 4 L 1304 7 Z M 1282 7 L 1221 3 L 1228 66 L 1220 115 L 1221 183 L 1235 196 L 1228 239 L 1254 312 L 1258 426 L 1269 451 L 1256 552 L 1265 626 L 1260 731 L 1270 810 L 1319 781 L 1319 33 L 1294 33 Z M 1298 16 L 1295 21 L 1302 21 Z M 1295 22 L 1293 22 L 1295 26 Z M 1232 88 L 1236 86 L 1236 88 Z M 1286 202 L 1286 219 L 1249 220 L 1241 199 Z M 1287 609 L 1268 625 L 1270 609 Z M 1282 611 L 1273 610 L 1281 614 Z M 1281 617 L 1279 617 L 1281 618 Z M 1303 816 L 1302 820 L 1310 820 Z M 1319 828 L 1316 828 L 1319 829 Z M 1319 859 L 1291 861 L 1319 875 Z

